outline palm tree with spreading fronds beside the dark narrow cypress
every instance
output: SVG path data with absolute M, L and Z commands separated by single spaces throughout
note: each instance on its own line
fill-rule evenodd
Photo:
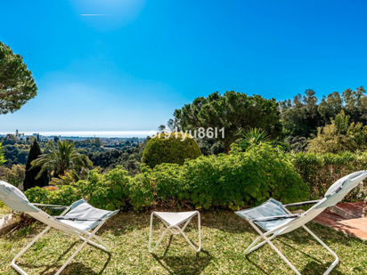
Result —
M 93 166 L 88 157 L 78 153 L 74 142 L 57 141 L 57 147 L 58 149 L 52 145 L 49 153 L 32 161 L 32 168 L 41 166 L 41 171 L 37 174 L 36 179 L 45 171 L 54 171 L 63 176 L 66 171 Z

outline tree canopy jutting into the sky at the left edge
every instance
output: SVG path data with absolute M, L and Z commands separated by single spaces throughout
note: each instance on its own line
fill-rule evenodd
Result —
M 37 95 L 37 85 L 20 54 L 0 42 L 0 115 L 14 112 Z

